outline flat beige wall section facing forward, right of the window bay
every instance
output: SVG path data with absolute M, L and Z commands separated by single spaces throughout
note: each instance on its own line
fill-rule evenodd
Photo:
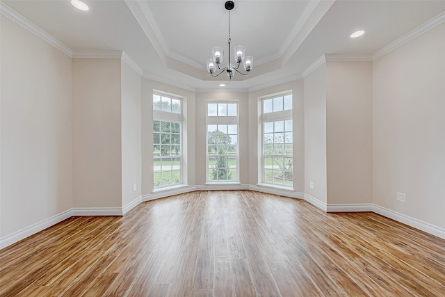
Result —
M 372 63 L 326 63 L 328 204 L 371 204 Z

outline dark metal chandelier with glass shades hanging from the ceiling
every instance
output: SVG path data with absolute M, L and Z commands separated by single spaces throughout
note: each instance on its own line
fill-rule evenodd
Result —
M 218 77 L 218 75 L 220 75 L 221 73 L 227 72 L 227 76 L 229 77 L 229 79 L 232 79 L 235 71 L 239 74 L 248 75 L 253 67 L 253 57 L 244 57 L 245 47 L 243 47 L 242 45 L 238 45 L 234 48 L 234 58 L 236 65 L 234 63 L 230 63 L 230 10 L 232 10 L 234 7 L 235 3 L 233 1 L 227 1 L 225 3 L 225 9 L 229 10 L 229 62 L 227 63 L 227 66 L 221 68 L 220 64 L 223 63 L 224 49 L 222 47 L 213 47 L 213 49 L 211 49 L 212 58 L 209 58 L 207 60 L 207 71 L 211 74 L 212 77 Z M 244 65 L 245 73 L 238 70 L 241 63 L 243 63 Z M 216 67 L 218 67 L 218 70 L 220 70 L 218 74 L 215 74 L 215 64 Z

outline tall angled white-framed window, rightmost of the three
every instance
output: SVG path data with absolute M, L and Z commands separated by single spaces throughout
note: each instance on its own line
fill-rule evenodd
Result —
M 264 184 L 293 186 L 292 95 L 262 99 L 261 179 Z

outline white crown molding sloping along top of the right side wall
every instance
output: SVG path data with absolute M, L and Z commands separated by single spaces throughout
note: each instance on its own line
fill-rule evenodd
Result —
M 409 42 L 410 40 L 413 40 L 414 38 L 416 38 L 419 35 L 422 35 L 423 33 L 426 33 L 430 29 L 434 28 L 439 24 L 442 24 L 443 22 L 445 22 L 445 11 L 439 13 L 439 15 L 436 15 L 429 21 L 421 24 L 416 29 L 406 33 L 401 38 L 398 38 L 393 42 L 389 43 L 388 45 L 385 45 L 385 47 L 382 47 L 378 51 L 375 51 L 375 53 L 372 56 L 373 61 L 380 58 L 381 56 L 385 56 L 390 51 L 394 51 L 394 49 L 397 49 L 398 47 L 405 45 L 405 43 Z

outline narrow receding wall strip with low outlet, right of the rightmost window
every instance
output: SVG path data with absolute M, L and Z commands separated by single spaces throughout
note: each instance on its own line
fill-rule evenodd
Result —
M 325 64 L 305 77 L 305 193 L 327 203 Z

